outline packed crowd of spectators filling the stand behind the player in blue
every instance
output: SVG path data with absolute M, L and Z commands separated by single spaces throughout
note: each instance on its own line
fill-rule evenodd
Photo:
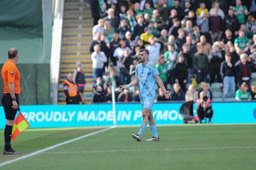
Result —
M 223 100 L 256 99 L 255 0 L 99 0 L 90 6 L 93 103 L 111 102 L 111 86 L 131 82 L 141 48 L 172 101 L 196 101 L 202 91 L 212 99 L 213 83 L 222 83 Z M 139 95 L 134 87 L 116 92 L 116 101 L 139 101 Z M 156 101 L 165 100 L 157 90 Z

